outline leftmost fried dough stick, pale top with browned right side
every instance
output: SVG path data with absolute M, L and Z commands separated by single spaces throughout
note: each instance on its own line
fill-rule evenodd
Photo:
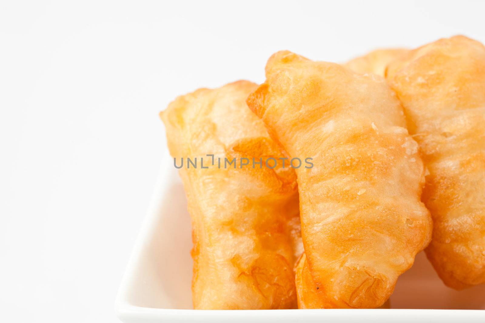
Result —
M 161 113 L 177 165 L 181 158 L 198 160 L 197 168 L 184 164 L 179 170 L 193 225 L 195 309 L 296 307 L 294 170 L 281 161 L 274 169 L 252 163 L 241 168 L 240 158 L 264 162 L 284 156 L 245 103 L 255 88 L 238 81 L 200 89 L 178 97 Z M 207 154 L 214 155 L 214 165 Z M 201 168 L 201 157 L 208 168 Z M 224 169 L 225 158 L 236 158 L 237 168 Z

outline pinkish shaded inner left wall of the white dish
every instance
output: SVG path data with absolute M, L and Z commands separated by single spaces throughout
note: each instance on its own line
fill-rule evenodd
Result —
M 151 239 L 138 260 L 129 303 L 139 307 L 192 309 L 192 230 L 180 181 L 171 181 L 156 213 Z

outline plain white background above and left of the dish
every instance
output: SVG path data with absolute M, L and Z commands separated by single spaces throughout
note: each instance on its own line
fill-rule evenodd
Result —
M 175 2 L 175 1 L 173 1 Z M 0 321 L 118 322 L 177 95 L 463 33 L 485 2 L 0 1 Z M 167 261 L 169 261 L 167 259 Z

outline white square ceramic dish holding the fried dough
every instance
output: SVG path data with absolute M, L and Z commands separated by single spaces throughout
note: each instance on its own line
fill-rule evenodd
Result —
M 402 275 L 392 309 L 192 309 L 191 224 L 177 169 L 165 153 L 148 214 L 129 260 L 116 313 L 125 323 L 148 322 L 480 322 L 485 285 L 454 291 L 423 253 Z

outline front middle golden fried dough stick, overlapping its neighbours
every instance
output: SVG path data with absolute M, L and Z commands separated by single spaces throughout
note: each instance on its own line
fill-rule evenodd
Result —
M 299 307 L 383 305 L 432 226 L 418 145 L 386 81 L 281 51 L 247 102 L 291 157 L 313 158 L 296 169 Z

